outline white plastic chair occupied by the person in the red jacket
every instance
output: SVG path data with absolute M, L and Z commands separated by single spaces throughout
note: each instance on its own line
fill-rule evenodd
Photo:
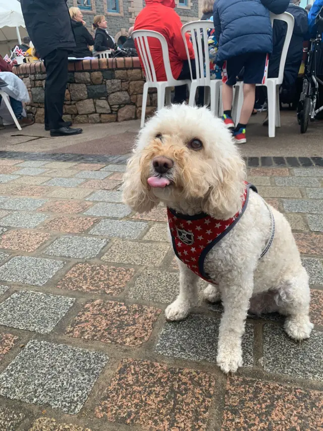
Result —
M 157 88 L 157 110 L 159 111 L 159 109 L 165 106 L 165 97 L 166 105 L 171 105 L 171 87 L 176 87 L 178 85 L 190 85 L 191 81 L 189 79 L 177 80 L 174 78 L 171 70 L 167 41 L 162 34 L 152 30 L 136 30 L 131 33 L 131 36 L 137 42 L 138 54 L 143 63 L 146 77 L 146 82 L 143 86 L 141 107 L 142 111 L 140 127 L 143 127 L 145 123 L 148 88 Z M 156 72 L 150 54 L 148 37 L 154 37 L 160 42 L 167 81 L 157 81 L 156 79 Z

